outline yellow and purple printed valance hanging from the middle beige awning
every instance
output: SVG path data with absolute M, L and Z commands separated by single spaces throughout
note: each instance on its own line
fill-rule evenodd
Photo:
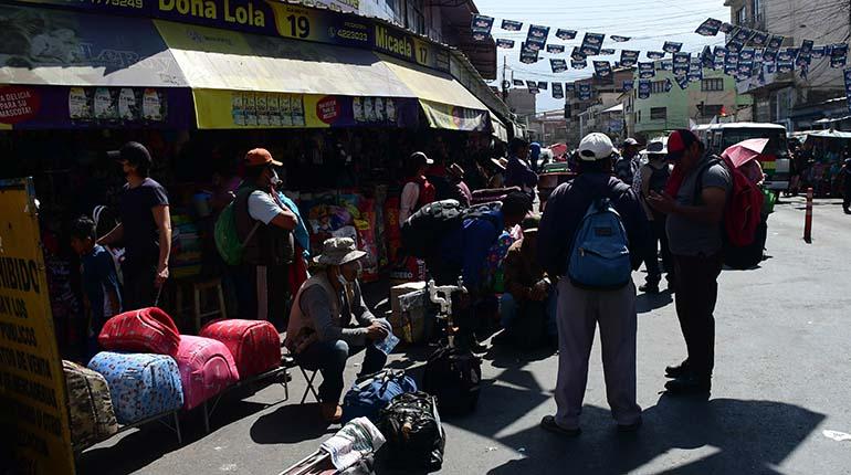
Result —
M 201 129 L 358 126 L 413 128 L 418 124 L 418 101 L 410 97 L 349 97 L 220 89 L 195 89 L 192 95 L 198 128 Z M 435 115 L 444 114 L 443 109 L 445 108 Z

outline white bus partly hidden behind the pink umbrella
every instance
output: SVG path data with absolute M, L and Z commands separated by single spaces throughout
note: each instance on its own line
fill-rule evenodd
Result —
M 779 124 L 732 123 L 714 124 L 698 131 L 713 154 L 750 138 L 767 138 L 768 144 L 759 156 L 759 165 L 766 175 L 765 188 L 785 191 L 789 188 L 791 156 L 786 141 L 786 127 Z

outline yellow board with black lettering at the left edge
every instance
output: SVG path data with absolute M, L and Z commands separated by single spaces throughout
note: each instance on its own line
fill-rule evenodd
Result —
M 0 414 L 14 431 L 12 473 L 74 474 L 32 179 L 0 180 Z

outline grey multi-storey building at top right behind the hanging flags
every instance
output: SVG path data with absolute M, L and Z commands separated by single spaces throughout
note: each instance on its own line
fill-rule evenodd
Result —
M 847 43 L 851 38 L 851 4 L 837 0 L 727 0 L 733 24 L 781 34 L 785 46 Z M 753 96 L 756 122 L 782 124 L 792 130 L 818 128 L 818 120 L 848 115 L 842 68 L 830 67 L 829 59 L 813 59 L 809 72 L 766 73 L 738 84 Z

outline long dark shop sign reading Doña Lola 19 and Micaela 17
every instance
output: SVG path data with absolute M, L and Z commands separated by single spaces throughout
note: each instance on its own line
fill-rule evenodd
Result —
M 280 1 L 260 0 L 18 0 L 95 13 L 145 17 L 182 23 L 282 36 L 316 43 L 365 48 L 412 63 L 449 72 L 449 49 L 424 41 L 407 30 L 340 8 L 319 10 Z M 322 3 L 322 2 L 317 2 Z M 336 0 L 357 4 L 358 0 Z

